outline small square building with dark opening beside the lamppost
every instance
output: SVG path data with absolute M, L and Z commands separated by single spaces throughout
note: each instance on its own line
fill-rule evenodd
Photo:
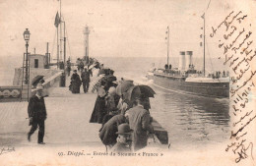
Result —
M 48 68 L 48 59 L 45 55 L 40 54 L 31 54 L 31 68 L 40 68 L 45 69 Z

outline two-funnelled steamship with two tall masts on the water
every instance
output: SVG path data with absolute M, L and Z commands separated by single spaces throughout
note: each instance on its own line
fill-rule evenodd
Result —
M 205 25 L 204 25 L 205 26 Z M 153 69 L 148 72 L 147 78 L 162 88 L 206 97 L 228 98 L 228 73 L 205 76 L 205 44 L 204 44 L 204 70 L 197 71 L 192 63 L 192 51 L 181 51 L 179 68 L 171 68 L 168 64 L 169 28 L 167 27 L 167 64 L 164 69 Z M 204 31 L 205 37 L 205 31 Z M 204 39 L 205 41 L 205 39 Z

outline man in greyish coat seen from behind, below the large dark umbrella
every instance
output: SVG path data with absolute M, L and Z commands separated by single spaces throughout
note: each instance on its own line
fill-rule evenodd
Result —
M 153 133 L 150 112 L 144 109 L 141 98 L 135 100 L 135 106 L 129 109 L 125 117 L 129 121 L 133 133 L 133 150 L 139 150 L 147 145 L 148 132 Z

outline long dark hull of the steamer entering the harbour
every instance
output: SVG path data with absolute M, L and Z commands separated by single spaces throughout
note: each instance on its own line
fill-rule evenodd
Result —
M 229 97 L 229 83 L 186 82 L 186 78 L 154 74 L 154 84 L 181 93 L 217 98 Z

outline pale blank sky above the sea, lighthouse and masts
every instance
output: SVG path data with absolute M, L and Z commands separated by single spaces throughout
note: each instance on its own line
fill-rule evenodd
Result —
M 249 13 L 256 1 L 232 0 L 61 0 L 62 19 L 67 30 L 67 55 L 85 55 L 86 26 L 90 33 L 90 56 L 164 57 L 167 54 L 165 31 L 170 29 L 170 56 L 179 51 L 193 51 L 203 56 L 200 34 L 201 16 L 206 12 L 206 35 L 209 56 L 221 53 L 209 38 L 212 26 L 237 7 Z M 29 51 L 49 52 L 56 57 L 54 20 L 59 11 L 58 0 L 0 0 L 0 57 L 23 56 L 23 32 L 31 31 Z M 209 5 L 209 7 L 208 7 Z M 251 16 L 255 20 L 255 15 Z M 54 40 L 55 39 L 55 40 Z

